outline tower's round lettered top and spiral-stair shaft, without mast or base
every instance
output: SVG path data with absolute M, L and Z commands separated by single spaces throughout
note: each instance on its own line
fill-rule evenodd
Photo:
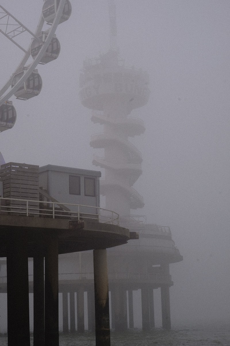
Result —
M 93 164 L 105 169 L 101 194 L 106 196 L 106 206 L 115 207 L 121 216 L 144 206 L 143 198 L 132 188 L 142 174 L 142 155 L 129 137 L 145 130 L 143 121 L 130 113 L 148 102 L 148 84 L 146 72 L 125 67 L 111 50 L 95 62 L 86 61 L 80 75 L 81 102 L 93 110 L 91 120 L 104 126 L 104 132 L 90 140 L 93 148 L 104 148 L 104 157 L 93 157 Z

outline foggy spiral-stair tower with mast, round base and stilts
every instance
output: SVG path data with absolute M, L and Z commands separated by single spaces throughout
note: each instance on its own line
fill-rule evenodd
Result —
M 142 328 L 154 327 L 153 290 L 160 288 L 162 327 L 170 329 L 169 288 L 173 282 L 169 264 L 183 257 L 169 227 L 149 225 L 146 217 L 131 213 L 144 206 L 143 197 L 133 189 L 142 174 L 142 155 L 131 138 L 143 134 L 145 128 L 142 120 L 130 114 L 149 100 L 149 75 L 134 66 L 126 67 L 120 59 L 114 0 L 108 0 L 108 5 L 110 48 L 97 59 L 84 62 L 80 99 L 92 110 L 91 120 L 103 126 L 103 132 L 91 136 L 90 146 L 104 149 L 104 157 L 94 155 L 92 163 L 105 172 L 100 193 L 105 196 L 106 209 L 119 213 L 121 226 L 139 233 L 139 240 L 108 251 L 112 328 L 127 328 L 127 313 L 129 327 L 133 327 L 134 290 L 141 290 Z

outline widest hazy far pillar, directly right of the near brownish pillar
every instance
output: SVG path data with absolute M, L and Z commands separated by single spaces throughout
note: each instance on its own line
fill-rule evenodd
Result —
M 115 286 L 111 290 L 112 328 L 117 331 L 128 329 L 126 290 Z

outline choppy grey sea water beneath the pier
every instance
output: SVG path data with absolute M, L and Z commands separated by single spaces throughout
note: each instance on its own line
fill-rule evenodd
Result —
M 33 337 L 31 336 L 31 346 Z M 93 333 L 60 333 L 60 346 L 95 346 Z M 143 332 L 138 329 L 124 333 L 111 332 L 111 346 L 230 346 L 230 328 L 196 327 L 188 329 L 154 329 Z M 0 346 L 7 346 L 7 336 L 0 337 Z

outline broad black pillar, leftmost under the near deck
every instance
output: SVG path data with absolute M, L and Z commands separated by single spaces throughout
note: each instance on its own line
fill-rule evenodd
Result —
M 27 231 L 12 230 L 7 249 L 8 346 L 30 346 Z

